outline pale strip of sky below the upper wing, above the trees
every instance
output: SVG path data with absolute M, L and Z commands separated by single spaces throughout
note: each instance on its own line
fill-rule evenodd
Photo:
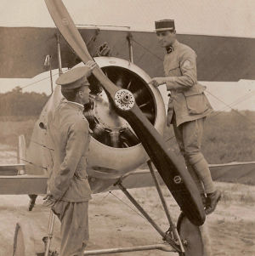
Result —
M 63 69 L 65 70 L 65 69 Z M 59 74 L 53 71 L 53 83 Z M 39 81 L 39 82 L 38 82 Z M 206 82 L 201 84 L 207 87 L 206 94 L 214 111 L 230 111 L 232 108 L 238 111 L 255 111 L 255 81 L 240 80 L 239 82 Z M 51 94 L 49 71 L 33 78 L 0 78 L 0 94 L 12 91 L 15 87 L 22 88 L 22 92 L 36 92 L 38 94 Z M 54 83 L 55 88 L 55 83 Z M 167 90 L 160 86 L 161 95 L 167 105 Z

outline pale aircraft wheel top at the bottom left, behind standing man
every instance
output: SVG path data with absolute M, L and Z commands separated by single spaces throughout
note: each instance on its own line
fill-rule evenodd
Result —
M 27 222 L 18 222 L 14 233 L 14 256 L 36 256 L 35 239 L 31 225 Z

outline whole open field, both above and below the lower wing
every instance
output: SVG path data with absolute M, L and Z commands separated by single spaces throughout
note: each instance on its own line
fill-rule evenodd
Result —
M 252 161 L 255 159 L 254 129 L 250 121 L 233 112 L 226 112 L 207 119 L 203 151 L 211 163 Z M 253 115 L 253 114 L 252 114 Z M 220 117 L 221 116 L 221 117 Z M 253 117 L 253 116 L 252 116 Z M 252 120 L 249 117 L 249 120 Z M 0 120 L 0 163 L 15 161 L 15 147 L 18 135 L 25 134 L 29 143 L 36 117 L 5 118 Z M 167 137 L 173 131 L 169 130 Z M 177 148 L 174 139 L 170 146 Z M 12 156 L 12 157 L 10 157 Z M 250 185 L 216 183 L 223 191 L 223 198 L 215 213 L 207 218 L 207 226 L 212 243 L 213 256 L 255 256 L 255 187 Z M 173 219 L 176 223 L 179 208 L 173 197 L 162 186 Z M 133 189 L 131 194 L 141 203 L 152 219 L 167 230 L 168 224 L 155 188 Z M 108 193 L 108 192 L 107 192 Z M 160 243 L 161 237 L 144 220 L 122 191 L 93 195 L 89 207 L 90 240 L 88 249 L 108 247 L 131 247 Z M 37 248 L 42 251 L 42 236 L 47 234 L 48 208 L 42 206 L 42 197 L 32 212 L 27 211 L 28 196 L 0 196 L 0 256 L 12 255 L 14 228 L 17 222 L 29 222 L 37 241 Z M 122 202 L 121 202 L 122 201 Z M 125 204 L 124 204 L 124 203 Z M 59 248 L 59 221 L 54 226 L 53 248 Z M 27 236 L 30 236 L 28 234 Z M 121 256 L 122 253 L 115 255 Z M 176 253 L 161 251 L 138 252 L 127 255 L 135 256 L 170 256 Z

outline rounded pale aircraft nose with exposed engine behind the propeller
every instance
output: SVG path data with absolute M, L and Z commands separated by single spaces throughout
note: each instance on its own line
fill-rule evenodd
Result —
M 166 122 L 166 116 L 163 114 L 165 106 L 158 89 L 148 84 L 150 77 L 139 66 L 127 60 L 114 57 L 97 57 L 94 60 L 116 86 L 132 92 L 141 111 L 156 130 L 163 134 Z M 76 67 L 81 65 L 83 63 Z M 92 191 L 96 193 L 107 190 L 122 175 L 138 168 L 149 157 L 133 129 L 113 110 L 99 82 L 94 77 L 90 78 L 89 82 L 92 85 L 91 104 L 85 106 L 84 115 L 88 119 L 92 135 L 88 153 L 89 183 Z M 48 112 L 54 111 L 62 97 L 57 86 L 42 110 L 27 151 L 27 158 L 31 162 L 36 161 L 38 166 L 44 166 L 48 170 L 53 164 L 53 152 L 50 150 L 53 145 L 47 132 Z M 37 144 L 33 143 L 35 140 Z M 37 169 L 37 173 L 38 171 Z

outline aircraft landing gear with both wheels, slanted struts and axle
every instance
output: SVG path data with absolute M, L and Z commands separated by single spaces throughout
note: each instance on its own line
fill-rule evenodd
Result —
M 165 252 L 176 253 L 179 256 L 212 256 L 210 253 L 209 237 L 206 230 L 206 225 L 196 226 L 193 225 L 189 219 L 187 219 L 184 213 L 181 213 L 178 217 L 177 227 L 173 222 L 170 212 L 167 209 L 167 202 L 161 191 L 161 186 L 159 180 L 157 179 L 156 171 L 154 170 L 151 162 L 148 162 L 148 167 L 150 168 L 150 173 L 155 181 L 156 190 L 161 199 L 162 206 L 167 215 L 169 222 L 169 229 L 167 232 L 161 230 L 161 227 L 156 224 L 156 222 L 150 218 L 150 215 L 145 212 L 139 203 L 133 198 L 133 196 L 127 191 L 127 188 L 122 184 L 122 179 L 116 182 L 116 186 L 124 193 L 125 196 L 133 203 L 133 205 L 143 214 L 144 218 L 148 220 L 150 225 L 161 235 L 163 242 L 156 243 L 152 245 L 142 245 L 136 247 L 117 247 L 109 249 L 91 250 L 86 251 L 84 255 L 103 255 L 109 253 L 131 253 L 136 251 L 146 251 L 146 250 L 161 250 Z M 139 171 L 138 171 L 139 172 Z M 35 249 L 35 238 L 31 230 L 29 223 L 18 223 L 16 225 L 15 235 L 14 235 L 14 254 L 13 256 L 44 256 L 45 252 L 48 252 L 48 256 L 57 256 L 56 252 L 50 251 L 50 240 L 53 237 L 54 228 L 54 214 L 51 212 L 48 224 L 48 236 L 44 237 L 43 242 L 45 243 L 42 247 Z M 42 237 L 42 236 L 41 236 Z

